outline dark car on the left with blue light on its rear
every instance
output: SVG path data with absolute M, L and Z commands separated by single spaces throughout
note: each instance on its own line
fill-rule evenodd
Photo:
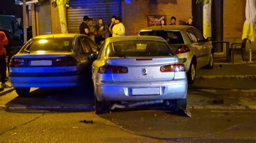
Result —
M 31 87 L 75 87 L 91 78 L 91 54 L 98 46 L 83 34 L 40 35 L 29 40 L 10 62 L 9 79 L 19 96 Z

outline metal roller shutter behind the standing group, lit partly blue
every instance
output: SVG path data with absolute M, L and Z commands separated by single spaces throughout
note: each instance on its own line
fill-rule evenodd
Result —
M 67 11 L 69 33 L 79 33 L 79 25 L 84 16 L 89 16 L 97 23 L 98 18 L 103 18 L 104 24 L 110 23 L 112 16 L 122 17 L 121 0 L 72 0 Z

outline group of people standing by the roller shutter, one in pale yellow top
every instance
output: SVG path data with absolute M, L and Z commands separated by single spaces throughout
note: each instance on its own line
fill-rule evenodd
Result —
M 97 24 L 93 25 L 93 19 L 84 16 L 83 22 L 79 26 L 79 33 L 85 34 L 93 41 L 100 45 L 106 37 L 119 37 L 125 35 L 125 27 L 122 19 L 116 16 L 111 17 L 111 22 L 108 27 L 105 26 L 103 19 L 99 18 Z M 107 35 L 107 33 L 109 33 Z

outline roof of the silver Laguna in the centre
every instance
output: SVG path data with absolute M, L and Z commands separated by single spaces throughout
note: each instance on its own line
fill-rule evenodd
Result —
M 131 41 L 131 40 L 155 40 L 155 41 L 164 41 L 164 42 L 166 42 L 161 37 L 157 37 L 157 36 L 138 36 L 138 35 L 122 36 L 122 37 L 111 37 L 111 38 L 107 38 L 106 40 L 108 40 L 109 42 Z

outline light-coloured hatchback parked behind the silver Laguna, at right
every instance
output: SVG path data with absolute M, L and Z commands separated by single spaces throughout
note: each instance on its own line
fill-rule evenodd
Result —
M 173 47 L 179 60 L 185 64 L 188 83 L 194 82 L 196 69 L 213 68 L 214 48 L 195 27 L 152 26 L 141 30 L 139 35 L 154 35 L 164 38 Z

